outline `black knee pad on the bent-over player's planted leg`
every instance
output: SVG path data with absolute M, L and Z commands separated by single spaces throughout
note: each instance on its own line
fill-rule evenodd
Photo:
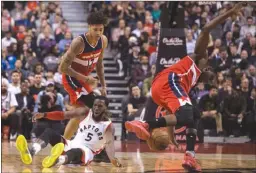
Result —
M 176 111 L 177 124 L 194 128 L 193 106 L 186 104 Z

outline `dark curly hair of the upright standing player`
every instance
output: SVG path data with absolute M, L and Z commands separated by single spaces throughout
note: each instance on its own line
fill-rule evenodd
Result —
M 88 16 L 87 22 L 89 25 L 102 24 L 102 25 L 106 26 L 108 23 L 108 18 L 106 17 L 106 15 L 103 14 L 103 12 L 97 11 L 97 12 L 91 13 Z

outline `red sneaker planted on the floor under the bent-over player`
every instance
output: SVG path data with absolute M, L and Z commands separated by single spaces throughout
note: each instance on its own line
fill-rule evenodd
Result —
M 184 160 L 182 162 L 182 167 L 186 170 L 201 172 L 202 169 L 200 165 L 197 163 L 196 159 L 191 156 L 191 154 L 186 153 L 184 156 Z

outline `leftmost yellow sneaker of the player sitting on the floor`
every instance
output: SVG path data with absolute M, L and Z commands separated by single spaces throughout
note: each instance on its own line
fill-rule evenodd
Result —
M 16 148 L 20 152 L 21 161 L 27 165 L 32 163 L 32 156 L 28 149 L 28 143 L 23 135 L 19 135 L 16 140 Z

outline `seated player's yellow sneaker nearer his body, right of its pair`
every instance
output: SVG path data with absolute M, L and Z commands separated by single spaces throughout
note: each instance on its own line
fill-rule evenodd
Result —
M 63 153 L 63 151 L 64 151 L 64 144 L 63 143 L 56 144 L 54 147 L 52 147 L 51 155 L 44 158 L 42 162 L 42 166 L 44 168 L 50 168 L 54 166 L 57 162 L 57 159 Z

